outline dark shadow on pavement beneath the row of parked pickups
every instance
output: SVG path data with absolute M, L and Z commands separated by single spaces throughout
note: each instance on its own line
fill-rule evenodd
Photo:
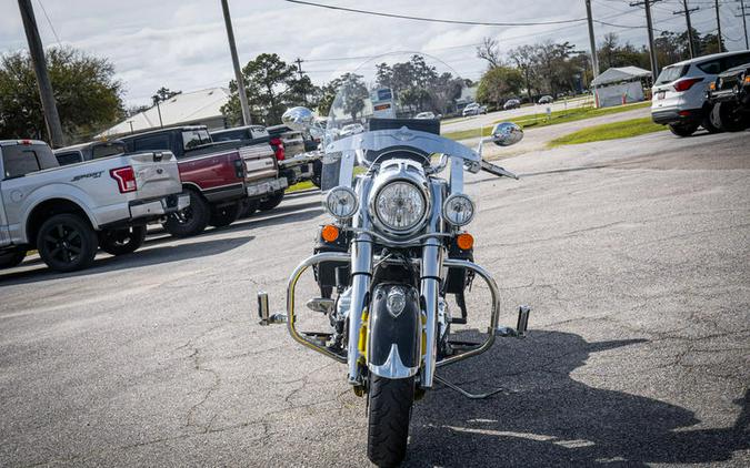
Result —
M 141 266 L 149 266 L 169 262 L 179 262 L 188 258 L 198 258 L 209 255 L 217 255 L 233 248 L 237 248 L 248 242 L 252 241 L 254 236 L 207 240 L 202 242 L 189 242 L 179 245 L 160 245 L 166 242 L 174 241 L 171 237 L 161 237 L 158 240 L 149 240 L 143 250 L 133 252 L 132 254 L 121 255 L 118 257 L 108 256 L 101 257 L 101 253 L 93 262 L 93 265 L 87 269 L 73 273 L 57 273 L 47 267 L 40 258 L 34 258 L 23 263 L 23 266 L 38 265 L 34 269 L 18 268 L 8 269 L 8 273 L 0 274 L 0 286 L 32 283 L 38 281 L 57 279 L 61 277 L 76 277 L 81 275 L 90 275 L 97 273 L 106 273 L 126 268 L 138 268 Z M 149 245 L 157 245 L 149 248 Z

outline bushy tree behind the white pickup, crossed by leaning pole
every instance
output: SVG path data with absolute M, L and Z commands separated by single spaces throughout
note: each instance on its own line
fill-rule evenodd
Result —
M 62 130 L 69 141 L 90 139 L 122 118 L 122 85 L 107 59 L 71 48 L 49 49 L 47 67 Z M 0 139 L 44 139 L 47 128 L 31 58 L 0 59 Z

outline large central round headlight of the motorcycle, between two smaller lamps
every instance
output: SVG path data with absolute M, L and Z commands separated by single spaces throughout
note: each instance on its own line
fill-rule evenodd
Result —
M 427 201 L 414 184 L 397 181 L 383 186 L 374 200 L 376 216 L 389 230 L 409 231 L 422 221 Z

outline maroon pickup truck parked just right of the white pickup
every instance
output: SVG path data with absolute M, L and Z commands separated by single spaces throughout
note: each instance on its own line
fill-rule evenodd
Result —
M 177 156 L 190 206 L 170 215 L 164 228 L 178 237 L 198 234 L 209 224 L 227 226 L 287 187 L 268 143 L 214 143 L 203 125 L 160 129 L 120 141 L 127 152 L 169 150 Z

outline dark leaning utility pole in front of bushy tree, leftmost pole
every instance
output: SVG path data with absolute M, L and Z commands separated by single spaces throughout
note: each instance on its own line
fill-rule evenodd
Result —
M 21 19 L 23 20 L 26 39 L 29 41 L 29 54 L 31 55 L 33 71 L 37 75 L 39 96 L 41 98 L 42 111 L 44 112 L 44 122 L 47 123 L 47 133 L 50 136 L 50 143 L 52 147 L 62 147 L 64 146 L 62 125 L 60 124 L 58 106 L 54 103 L 54 94 L 52 93 L 50 77 L 47 72 L 44 48 L 42 48 L 41 38 L 39 38 L 39 29 L 37 29 L 37 19 L 33 16 L 31 0 L 18 0 L 18 8 L 21 10 Z

